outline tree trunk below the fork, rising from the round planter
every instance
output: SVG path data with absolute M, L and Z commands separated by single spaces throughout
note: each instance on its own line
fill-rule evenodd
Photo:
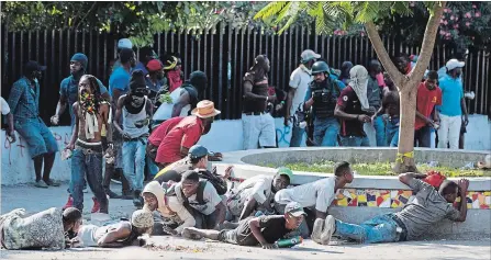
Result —
M 393 168 L 397 173 L 419 172 L 414 161 L 414 120 L 416 117 L 417 88 L 410 84 L 417 84 L 417 82 L 408 81 L 405 86 L 398 87 L 400 89 L 401 115 L 398 156 Z

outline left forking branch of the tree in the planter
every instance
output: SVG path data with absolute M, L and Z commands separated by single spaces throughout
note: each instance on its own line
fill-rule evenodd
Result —
M 405 76 L 399 72 L 398 68 L 390 59 L 389 54 L 383 46 L 382 39 L 380 38 L 379 32 L 377 32 L 377 27 L 375 26 L 373 22 L 367 22 L 365 24 L 365 29 L 367 30 L 368 38 L 370 38 L 371 45 L 377 53 L 377 57 L 380 59 L 380 63 L 382 63 L 383 68 L 387 70 L 394 84 L 398 88 L 404 86 L 402 83 L 402 80 L 405 79 Z

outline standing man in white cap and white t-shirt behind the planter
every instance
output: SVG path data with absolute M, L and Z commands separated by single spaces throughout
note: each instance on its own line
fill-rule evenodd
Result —
M 293 117 L 293 126 L 291 132 L 290 147 L 300 147 L 303 143 L 303 135 L 305 133 L 305 126 L 301 127 L 295 112 L 301 108 L 305 98 L 309 83 L 312 81 L 312 65 L 316 59 L 321 58 L 321 55 L 314 53 L 311 49 L 305 49 L 300 55 L 300 66 L 291 72 L 290 76 L 290 90 L 287 97 L 287 110 L 284 114 L 284 125 L 288 126 Z M 302 110 L 302 109 L 301 109 Z

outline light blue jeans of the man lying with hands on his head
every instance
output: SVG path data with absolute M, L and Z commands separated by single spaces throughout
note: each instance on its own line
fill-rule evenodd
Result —
M 336 219 L 336 231 L 334 235 L 366 244 L 399 241 L 397 231 L 399 226 L 390 216 L 391 214 L 376 216 L 360 225 Z

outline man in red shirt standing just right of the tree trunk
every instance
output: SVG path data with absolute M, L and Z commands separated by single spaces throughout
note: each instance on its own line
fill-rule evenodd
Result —
M 432 70 L 428 72 L 427 79 L 417 87 L 414 146 L 429 147 L 431 127 L 438 129 L 438 111 L 435 110 L 433 120 L 429 118 L 435 105 L 442 105 L 442 90 L 436 86 L 438 74 Z

